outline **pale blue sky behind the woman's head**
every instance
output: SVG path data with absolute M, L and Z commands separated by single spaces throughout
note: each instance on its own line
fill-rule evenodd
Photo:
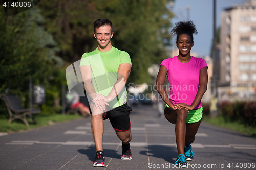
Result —
M 246 0 L 216 0 L 216 28 L 220 27 L 220 15 L 225 8 L 231 7 L 232 4 L 243 4 Z M 192 20 L 197 28 L 197 35 L 194 35 L 193 52 L 198 53 L 200 57 L 210 55 L 210 48 L 213 40 L 213 21 L 214 21 L 214 0 L 175 0 L 172 11 L 175 22 L 187 20 L 187 6 L 190 6 L 189 20 Z M 175 38 L 172 40 L 173 47 Z

